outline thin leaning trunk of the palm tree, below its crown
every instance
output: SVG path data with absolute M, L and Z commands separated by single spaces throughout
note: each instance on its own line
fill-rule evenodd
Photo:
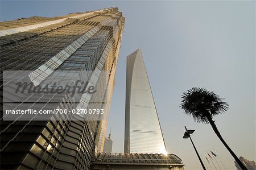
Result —
M 220 132 L 218 131 L 217 126 L 215 125 L 214 121 L 212 120 L 212 118 L 208 118 L 208 121 L 210 123 L 210 125 L 212 125 L 212 128 L 214 130 L 214 132 L 216 133 L 216 135 L 218 136 L 218 138 L 220 138 L 221 142 L 224 144 L 224 146 L 228 149 L 228 151 L 230 152 L 230 154 L 234 157 L 234 159 L 237 161 L 238 165 L 240 166 L 241 169 L 243 170 L 247 170 L 247 168 L 245 167 L 245 165 L 242 163 L 242 161 L 240 159 L 238 159 L 237 155 L 234 154 L 234 152 L 231 150 L 231 148 L 228 146 L 228 144 L 226 144 L 225 140 L 222 138 Z

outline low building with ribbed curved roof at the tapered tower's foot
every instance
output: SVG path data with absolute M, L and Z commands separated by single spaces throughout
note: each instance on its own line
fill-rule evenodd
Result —
M 98 154 L 91 164 L 91 169 L 147 169 L 147 170 L 184 170 L 182 160 L 174 154 Z

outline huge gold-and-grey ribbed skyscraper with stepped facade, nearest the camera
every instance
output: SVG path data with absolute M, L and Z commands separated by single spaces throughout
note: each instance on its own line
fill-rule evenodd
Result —
M 88 76 L 92 80 L 86 88 L 94 85 L 97 93 L 60 95 L 60 102 L 53 102 L 54 108 L 104 109 L 104 114 L 92 115 L 93 119 L 86 121 L 5 121 L 1 110 L 1 169 L 89 169 L 92 155 L 102 152 L 104 146 L 124 23 L 116 7 L 0 23 L 1 96 L 9 100 L 13 97 L 3 95 L 3 71 L 31 71 L 28 79 L 35 86 L 46 84 L 56 71 L 59 76 L 55 77 L 61 81 L 63 73 L 81 71 L 79 78 Z M 101 71 L 109 74 L 99 82 Z M 42 103 L 42 98 L 31 95 L 26 101 L 32 106 Z M 49 108 L 51 101 L 47 98 L 39 109 Z M 0 102 L 5 104 L 2 99 Z

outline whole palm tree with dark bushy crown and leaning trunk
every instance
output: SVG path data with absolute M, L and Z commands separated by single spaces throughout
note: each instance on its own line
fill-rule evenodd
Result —
M 180 107 L 185 111 L 185 114 L 192 115 L 195 122 L 205 124 L 210 123 L 218 138 L 220 138 L 221 142 L 228 149 L 240 167 L 242 169 L 247 169 L 241 160 L 238 159 L 236 154 L 230 149 L 228 144 L 226 144 L 214 123 L 215 121 L 212 119 L 214 115 L 222 114 L 228 110 L 228 103 L 223 102 L 222 98 L 216 93 L 209 92 L 207 89 L 192 88 L 188 90 L 188 92 L 183 93 Z

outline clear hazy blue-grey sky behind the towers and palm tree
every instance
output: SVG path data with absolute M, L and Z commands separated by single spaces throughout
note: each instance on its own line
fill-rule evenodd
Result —
M 201 168 L 191 142 L 182 139 L 187 126 L 196 130 L 200 155 L 214 147 L 226 167 L 236 169 L 212 127 L 179 107 L 181 94 L 199 86 L 229 103 L 215 123 L 238 157 L 255 160 L 255 1 L 1 1 L 0 19 L 113 6 L 126 17 L 108 127 L 113 152 L 123 152 L 126 56 L 141 48 L 168 152 L 186 169 Z

